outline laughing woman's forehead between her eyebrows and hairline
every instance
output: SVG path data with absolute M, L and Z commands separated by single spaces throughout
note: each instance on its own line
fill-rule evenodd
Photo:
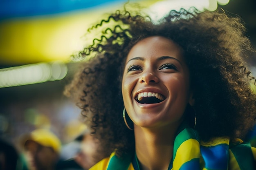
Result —
M 133 57 L 161 57 L 171 56 L 183 59 L 181 48 L 172 40 L 161 36 L 152 36 L 140 40 L 128 53 L 127 60 Z

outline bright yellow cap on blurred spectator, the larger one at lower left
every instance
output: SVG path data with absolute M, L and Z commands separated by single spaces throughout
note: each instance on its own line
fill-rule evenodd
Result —
M 28 140 L 35 141 L 36 143 L 51 147 L 55 152 L 61 151 L 61 141 L 58 139 L 56 135 L 54 135 L 51 131 L 47 129 L 36 129 L 26 135 L 25 139 L 23 138 L 22 142 L 23 146 L 26 145 Z

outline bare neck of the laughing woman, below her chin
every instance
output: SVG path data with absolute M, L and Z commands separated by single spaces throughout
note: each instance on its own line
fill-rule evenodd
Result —
M 141 170 L 167 170 L 178 125 L 149 129 L 134 126 L 135 151 Z

